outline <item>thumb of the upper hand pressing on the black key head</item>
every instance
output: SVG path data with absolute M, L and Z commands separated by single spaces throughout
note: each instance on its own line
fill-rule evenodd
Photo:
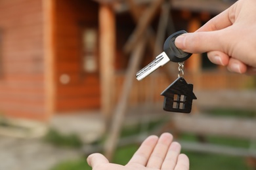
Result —
M 225 48 L 226 36 L 222 30 L 184 33 L 175 39 L 175 46 L 190 53 L 221 51 Z

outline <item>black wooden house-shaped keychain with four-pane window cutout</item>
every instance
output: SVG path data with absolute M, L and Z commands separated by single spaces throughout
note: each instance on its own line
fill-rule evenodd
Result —
M 197 99 L 193 93 L 193 84 L 187 84 L 184 78 L 179 77 L 161 95 L 165 97 L 163 110 L 169 112 L 190 113 L 193 99 Z

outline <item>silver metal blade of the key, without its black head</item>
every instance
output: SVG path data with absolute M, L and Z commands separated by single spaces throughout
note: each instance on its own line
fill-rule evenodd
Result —
M 156 69 L 158 69 L 160 66 L 165 65 L 165 63 L 167 63 L 168 61 L 170 61 L 170 59 L 168 58 L 168 56 L 165 54 L 165 52 L 162 52 L 160 55 L 158 55 L 156 57 L 156 59 L 154 59 L 154 61 L 152 61 L 151 63 L 149 63 L 148 65 L 146 65 L 146 67 L 144 67 L 143 69 L 141 69 L 137 74 L 137 80 L 142 80 L 143 78 L 145 78 L 146 76 L 150 75 L 151 73 L 153 73 Z

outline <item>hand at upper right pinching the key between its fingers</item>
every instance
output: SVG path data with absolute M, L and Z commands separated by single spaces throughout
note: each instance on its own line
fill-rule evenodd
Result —
M 195 33 L 175 40 L 190 53 L 207 52 L 211 62 L 236 73 L 256 73 L 256 1 L 239 0 Z

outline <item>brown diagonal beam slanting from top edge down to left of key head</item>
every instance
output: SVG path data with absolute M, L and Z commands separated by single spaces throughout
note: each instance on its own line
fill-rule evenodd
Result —
M 146 28 L 148 27 L 150 22 L 152 22 L 154 16 L 156 15 L 156 12 L 158 11 L 158 9 L 160 9 L 162 3 L 163 0 L 153 1 L 150 7 L 148 7 L 148 9 L 146 9 L 146 11 L 142 14 L 139 23 L 135 28 L 135 31 L 129 37 L 127 43 L 125 44 L 124 51 L 126 53 L 131 52 L 131 50 L 135 47 L 135 42 L 143 38 L 143 35 L 145 35 L 144 32 L 146 31 Z

